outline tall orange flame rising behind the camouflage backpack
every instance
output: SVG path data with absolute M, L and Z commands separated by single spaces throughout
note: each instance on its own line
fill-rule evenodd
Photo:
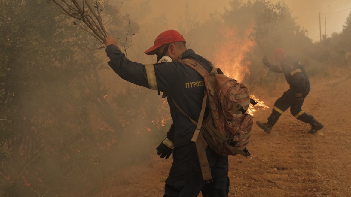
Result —
M 248 26 L 243 35 L 235 30 L 235 28 L 224 27 L 219 30 L 222 41 L 216 44 L 213 63 L 215 67 L 219 67 L 223 73 L 236 79 L 238 82 L 245 77 L 250 76 L 250 61 L 244 60 L 247 52 L 256 42 L 247 39 L 252 33 L 252 27 Z

